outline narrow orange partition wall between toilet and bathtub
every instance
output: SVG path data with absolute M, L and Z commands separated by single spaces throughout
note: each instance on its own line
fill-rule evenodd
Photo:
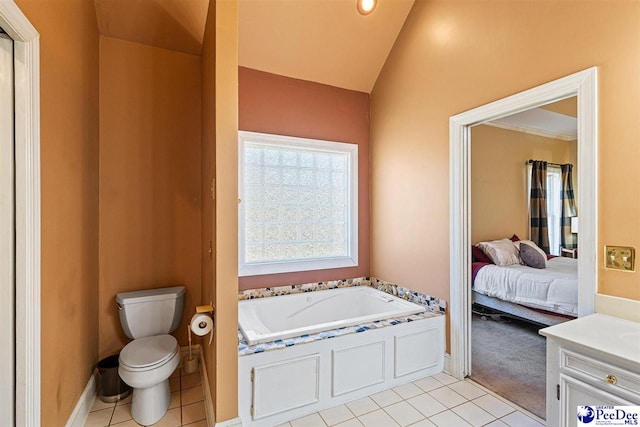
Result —
M 202 50 L 203 154 L 215 174 L 211 238 L 216 308 L 213 348 L 205 361 L 216 422 L 238 415 L 238 2 L 211 2 Z M 211 162 L 211 163 L 209 163 Z M 209 279 L 207 279 L 208 281 Z

